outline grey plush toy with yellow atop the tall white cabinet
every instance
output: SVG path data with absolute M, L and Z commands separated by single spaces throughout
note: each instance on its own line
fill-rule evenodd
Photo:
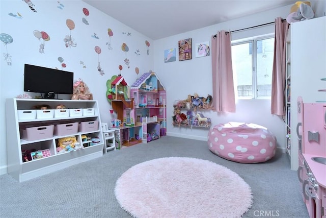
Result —
M 310 2 L 295 2 L 291 7 L 290 14 L 286 17 L 288 23 L 314 18 L 315 14 Z

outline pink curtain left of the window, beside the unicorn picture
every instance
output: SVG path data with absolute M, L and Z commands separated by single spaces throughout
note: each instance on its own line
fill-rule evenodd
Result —
M 235 112 L 230 33 L 222 30 L 212 37 L 213 107 Z

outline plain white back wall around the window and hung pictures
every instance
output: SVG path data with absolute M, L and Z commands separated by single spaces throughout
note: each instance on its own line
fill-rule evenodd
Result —
M 314 1 L 311 1 L 314 8 Z M 211 36 L 220 30 L 239 30 L 248 27 L 254 27 L 263 23 L 275 21 L 276 17 L 286 18 L 292 5 L 265 11 L 262 13 L 230 20 L 206 28 L 189 31 L 175 36 L 156 40 L 154 63 L 155 69 L 162 83 L 167 89 L 167 134 L 183 138 L 193 138 L 207 140 L 207 129 L 173 127 L 173 104 L 176 100 L 184 100 L 188 94 L 198 93 L 206 97 L 212 94 L 212 76 L 211 76 L 211 56 L 195 57 L 195 43 L 211 41 Z M 322 8 L 320 10 L 320 8 Z M 323 15 L 325 2 L 318 1 L 318 12 Z M 318 16 L 318 14 L 316 14 Z M 232 40 L 250 38 L 253 36 L 274 33 L 274 24 L 259 28 L 253 28 L 244 31 L 238 31 L 231 34 Z M 164 62 L 164 51 L 175 48 L 178 53 L 178 41 L 186 38 L 192 38 L 193 58 L 192 60 Z M 250 122 L 265 126 L 271 130 L 277 137 L 278 147 L 285 149 L 286 131 L 282 117 L 270 114 L 270 100 L 239 100 L 236 103 L 235 113 L 217 113 L 213 111 L 204 111 L 205 116 L 212 120 L 211 125 L 226 122 Z M 285 151 L 285 150 L 284 150 Z

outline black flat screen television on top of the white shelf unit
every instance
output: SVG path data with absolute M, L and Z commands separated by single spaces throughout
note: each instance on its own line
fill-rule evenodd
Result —
M 44 93 L 53 99 L 55 94 L 72 94 L 73 72 L 25 64 L 24 91 Z M 43 98 L 43 96 L 42 96 Z

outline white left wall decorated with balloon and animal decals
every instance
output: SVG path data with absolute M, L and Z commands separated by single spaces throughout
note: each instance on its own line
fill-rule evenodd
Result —
M 0 1 L 0 33 L 13 37 L 13 42 L 7 44 L 8 53 L 12 56 L 12 65 L 7 65 L 3 55 L 0 59 L 0 138 L 3 142 L 6 141 L 5 100 L 23 93 L 24 63 L 61 69 L 58 57 L 62 57 L 67 65 L 63 69 L 73 71 L 74 79 L 82 78 L 89 86 L 94 99 L 98 101 L 102 122 L 109 122 L 111 119 L 110 104 L 105 96 L 106 81 L 120 73 L 119 65 L 123 66 L 121 74 L 129 84 L 137 79 L 135 67 L 140 69 L 139 76 L 154 68 L 153 46 L 149 46 L 149 55 L 146 53 L 145 41 L 148 40 L 150 44 L 153 44 L 150 38 L 88 4 L 82 1 L 60 1 L 60 4 L 64 6 L 60 9 L 57 1 L 34 0 L 32 2 L 37 13 L 31 11 L 29 6 L 21 0 Z M 89 25 L 82 22 L 85 17 L 83 8 L 87 8 L 90 12 L 86 17 Z M 9 15 L 12 13 L 18 16 L 17 12 L 22 18 Z M 71 19 L 75 23 L 71 35 L 75 38 L 76 47 L 65 46 L 63 39 L 70 34 L 66 19 Z M 114 33 L 111 39 L 113 50 L 108 50 L 106 45 L 109 41 L 108 28 L 111 28 Z M 39 52 L 42 40 L 39 41 L 34 36 L 34 30 L 44 31 L 50 36 L 50 40 L 45 41 L 44 54 Z M 131 36 L 123 32 L 129 32 Z M 91 37 L 94 33 L 99 39 Z M 129 47 L 127 58 L 130 60 L 130 68 L 124 63 L 126 54 L 121 49 L 123 42 Z M 1 54 L 7 53 L 3 42 L 0 44 Z M 95 45 L 101 47 L 102 52 L 99 56 L 94 51 Z M 141 55 L 134 54 L 136 50 L 140 50 Z M 80 61 L 84 64 L 80 64 Z M 97 70 L 98 61 L 104 70 L 103 76 Z M 65 98 L 65 96 L 59 95 L 59 98 Z M 8 139 L 8 143 L 10 140 Z M 0 143 L 0 174 L 5 173 L 7 173 L 7 145 Z

